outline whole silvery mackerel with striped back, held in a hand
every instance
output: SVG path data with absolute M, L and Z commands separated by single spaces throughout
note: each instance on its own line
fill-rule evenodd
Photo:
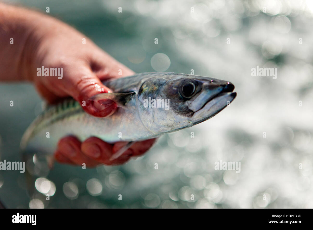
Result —
M 146 72 L 103 82 L 112 93 L 89 100 L 114 100 L 109 117 L 86 113 L 74 99 L 49 106 L 27 128 L 23 152 L 52 155 L 60 138 L 74 135 L 83 141 L 95 136 L 108 143 L 126 141 L 126 151 L 136 141 L 157 138 L 208 120 L 236 97 L 234 85 L 210 77 L 172 72 Z M 112 159 L 114 159 L 114 157 Z

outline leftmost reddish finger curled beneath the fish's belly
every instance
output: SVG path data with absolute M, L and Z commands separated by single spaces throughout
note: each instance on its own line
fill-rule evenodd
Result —
M 74 136 L 67 136 L 59 140 L 58 152 L 65 158 L 74 162 L 76 165 L 82 166 L 84 163 L 87 167 L 95 167 L 99 163 L 80 151 L 81 143 Z

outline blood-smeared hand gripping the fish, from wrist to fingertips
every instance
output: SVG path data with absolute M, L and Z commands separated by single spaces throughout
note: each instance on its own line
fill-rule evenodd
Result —
M 102 80 L 134 74 L 134 72 L 97 47 L 85 35 L 56 20 L 47 22 L 52 30 L 42 36 L 36 50 L 33 69 L 62 68 L 63 76 L 37 76 L 33 71 L 30 78 L 38 92 L 49 103 L 71 96 L 89 114 L 97 117 L 110 116 L 117 109 L 112 100 L 97 104 L 88 98 L 95 94 L 112 92 L 101 83 Z M 54 28 L 54 29 L 53 29 Z M 82 43 L 82 39 L 86 43 Z M 122 75 L 118 73 L 121 72 Z M 146 152 L 155 139 L 137 142 L 123 155 L 110 161 L 110 157 L 126 145 L 125 142 L 108 144 L 99 138 L 90 137 L 81 142 L 74 136 L 59 140 L 55 159 L 60 163 L 94 167 L 98 164 L 116 165 L 125 163 L 131 156 L 140 156 Z

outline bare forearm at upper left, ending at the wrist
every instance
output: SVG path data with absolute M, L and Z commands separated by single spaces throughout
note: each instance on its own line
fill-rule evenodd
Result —
M 0 3 L 0 80 L 32 80 L 40 44 L 56 19 Z

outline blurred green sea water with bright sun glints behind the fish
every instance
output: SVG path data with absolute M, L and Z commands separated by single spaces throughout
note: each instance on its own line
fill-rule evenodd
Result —
M 145 156 L 124 166 L 82 170 L 56 164 L 49 172 L 40 165 L 33 169 L 40 178 L 31 201 L 23 174 L 0 171 L 6 206 L 313 207 L 311 1 L 21 3 L 42 12 L 49 6 L 52 16 L 136 72 L 193 69 L 195 75 L 231 81 L 238 96 L 216 117 L 162 136 Z M 257 66 L 277 68 L 277 79 L 251 76 Z M 18 161 L 20 138 L 41 100 L 29 84 L 1 84 L 0 91 L 1 160 Z M 215 171 L 220 160 L 240 161 L 240 173 Z

